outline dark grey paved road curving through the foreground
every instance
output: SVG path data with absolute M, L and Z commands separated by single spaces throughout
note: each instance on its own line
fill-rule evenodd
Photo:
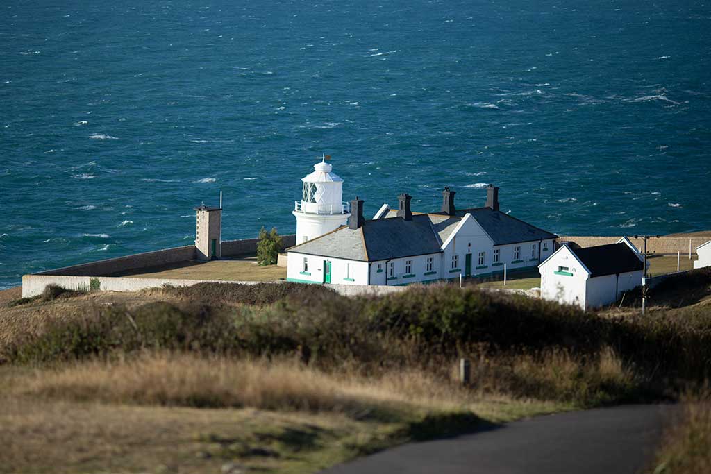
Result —
M 674 410 L 632 405 L 539 416 L 406 444 L 323 474 L 633 474 L 646 467 Z

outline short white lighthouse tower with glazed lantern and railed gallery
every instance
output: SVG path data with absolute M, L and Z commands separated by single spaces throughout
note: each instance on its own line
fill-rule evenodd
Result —
M 343 180 L 331 172 L 326 163 L 314 165 L 314 172 L 301 178 L 301 200 L 294 201 L 296 216 L 296 244 L 324 235 L 346 224 L 351 216 L 351 205 L 343 202 Z

